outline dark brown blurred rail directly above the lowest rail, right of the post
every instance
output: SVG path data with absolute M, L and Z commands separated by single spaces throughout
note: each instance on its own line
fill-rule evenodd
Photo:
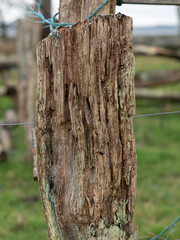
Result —
M 180 70 L 141 72 L 135 77 L 136 87 L 155 87 L 180 82 Z

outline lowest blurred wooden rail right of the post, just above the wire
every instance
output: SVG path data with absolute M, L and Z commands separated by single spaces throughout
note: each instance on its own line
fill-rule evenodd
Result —
M 165 91 L 161 89 L 137 88 L 136 98 L 180 101 L 180 94 L 179 91 Z

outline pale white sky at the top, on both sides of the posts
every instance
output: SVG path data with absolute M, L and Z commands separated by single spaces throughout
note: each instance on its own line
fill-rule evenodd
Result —
M 18 0 L 12 0 L 11 2 L 16 4 Z M 24 2 L 30 3 L 32 0 L 24 0 Z M 53 13 L 58 11 L 57 0 L 52 0 Z M 20 7 L 6 7 L 6 1 L 1 1 L 1 9 L 3 9 L 3 15 L 6 21 L 13 22 L 17 18 L 23 15 L 23 11 Z M 175 6 L 152 6 L 152 5 L 128 5 L 123 4 L 120 7 L 116 7 L 116 12 L 121 12 L 133 18 L 134 27 L 145 26 L 159 26 L 159 25 L 177 25 L 177 7 Z

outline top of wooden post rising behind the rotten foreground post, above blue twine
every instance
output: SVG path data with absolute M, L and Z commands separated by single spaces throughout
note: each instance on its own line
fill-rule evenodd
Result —
M 59 7 L 59 22 L 76 23 L 84 21 L 92 14 L 105 0 L 61 0 Z M 114 14 L 115 0 L 110 0 L 97 14 Z

